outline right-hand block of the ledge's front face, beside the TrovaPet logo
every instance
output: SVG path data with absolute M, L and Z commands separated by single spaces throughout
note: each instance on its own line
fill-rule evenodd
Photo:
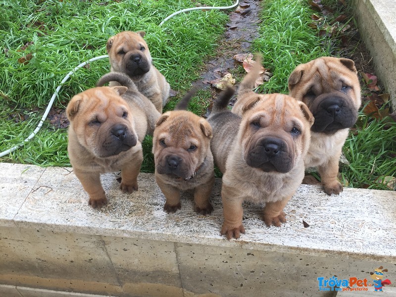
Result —
M 330 297 L 335 292 L 319 292 L 318 277 L 330 279 L 337 274 L 339 279 L 367 278 L 370 284 L 369 272 L 378 264 L 375 261 L 278 251 L 188 244 L 176 246 L 186 297 L 190 296 L 188 292 L 209 292 L 216 297 Z

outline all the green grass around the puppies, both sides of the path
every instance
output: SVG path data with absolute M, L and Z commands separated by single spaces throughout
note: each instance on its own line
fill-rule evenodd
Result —
M 200 2 L 208 5 L 233 3 L 232 0 Z M 298 64 L 323 55 L 343 55 L 336 34 L 331 38 L 319 37 L 318 30 L 309 27 L 310 16 L 316 12 L 308 7 L 307 1 L 266 0 L 261 3 L 259 37 L 252 43 L 251 51 L 261 52 L 263 64 L 273 77 L 259 87 L 259 92 L 288 93 L 288 77 Z M 22 142 L 36 127 L 43 108 L 62 78 L 82 61 L 105 54 L 108 37 L 123 30 L 147 32 L 145 39 L 155 66 L 172 89 L 179 91 L 165 108 L 173 109 L 176 101 L 198 79 L 202 61 L 215 53 L 227 21 L 222 11 L 194 11 L 179 14 L 162 27 L 158 26 L 172 12 L 195 4 L 193 0 L 120 3 L 0 0 L 0 150 Z M 326 0 L 325 4 L 336 8 L 334 16 L 342 13 L 336 0 Z M 347 22 L 354 20 L 350 18 Z M 27 43 L 31 45 L 25 48 Z M 33 55 L 29 63 L 18 62 L 29 53 Z M 108 71 L 107 59 L 78 70 L 64 84 L 55 106 L 65 107 L 73 95 L 94 87 L 99 77 Z M 230 71 L 237 81 L 244 75 L 242 67 Z M 210 99 L 209 91 L 198 92 L 189 110 L 204 114 Z M 15 123 L 16 113 L 27 119 Z M 395 123 L 360 114 L 352 130 L 344 147 L 350 164 L 340 167 L 341 179 L 349 187 L 386 189 L 377 180 L 396 175 Z M 151 146 L 152 139 L 147 137 L 143 144 L 142 172 L 154 170 Z M 55 129 L 46 122 L 33 141 L 0 161 L 69 166 L 66 147 L 66 129 Z

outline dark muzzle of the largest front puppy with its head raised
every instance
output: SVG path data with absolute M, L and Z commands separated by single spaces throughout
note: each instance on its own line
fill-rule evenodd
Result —
M 247 165 L 265 172 L 289 172 L 293 167 L 286 142 L 277 137 L 263 137 L 250 146 Z

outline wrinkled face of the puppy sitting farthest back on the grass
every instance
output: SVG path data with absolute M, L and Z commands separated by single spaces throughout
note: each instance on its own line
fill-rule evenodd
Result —
M 124 31 L 108 39 L 106 50 L 114 71 L 139 79 L 150 70 L 151 55 L 144 36 L 143 31 Z

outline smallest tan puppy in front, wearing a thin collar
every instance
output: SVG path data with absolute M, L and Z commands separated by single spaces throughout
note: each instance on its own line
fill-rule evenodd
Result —
M 213 210 L 209 202 L 214 185 L 212 128 L 204 118 L 180 110 L 187 107 L 191 96 L 185 96 L 174 111 L 165 112 L 156 123 L 152 140 L 155 180 L 165 195 L 166 212 L 181 208 L 181 190 L 195 189 L 195 210 L 206 215 Z

